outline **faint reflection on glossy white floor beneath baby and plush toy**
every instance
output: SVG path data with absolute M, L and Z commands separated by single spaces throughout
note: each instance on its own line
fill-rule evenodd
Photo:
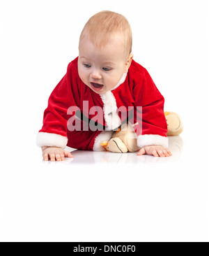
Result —
M 171 157 L 153 157 L 151 155 L 137 156 L 137 152 L 114 153 L 114 152 L 95 152 L 88 150 L 75 150 L 66 148 L 72 152 L 73 158 L 65 158 L 64 162 L 58 164 L 140 164 L 156 162 L 172 162 L 180 157 L 183 151 L 183 139 L 180 136 L 169 136 L 169 150 Z M 47 162 L 46 164 L 51 164 Z M 55 162 L 53 162 L 55 164 Z

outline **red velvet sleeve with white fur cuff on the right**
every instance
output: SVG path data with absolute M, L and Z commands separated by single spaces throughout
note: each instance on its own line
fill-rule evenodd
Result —
M 155 86 L 146 69 L 140 73 L 134 85 L 135 107 L 138 107 L 137 119 L 141 120 L 135 127 L 138 145 L 163 145 L 168 147 L 167 122 L 164 116 L 164 97 Z M 141 107 L 141 108 L 140 108 Z

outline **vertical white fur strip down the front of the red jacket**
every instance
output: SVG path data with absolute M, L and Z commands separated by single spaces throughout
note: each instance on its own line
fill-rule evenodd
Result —
M 111 91 L 100 94 L 103 101 L 104 120 L 106 121 L 107 131 L 116 129 L 121 125 L 121 118 L 117 114 L 116 98 Z

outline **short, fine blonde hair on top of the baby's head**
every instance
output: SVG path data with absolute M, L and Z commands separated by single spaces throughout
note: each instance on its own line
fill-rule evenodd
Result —
M 102 10 L 86 22 L 79 38 L 79 44 L 82 38 L 88 36 L 95 47 L 102 48 L 107 45 L 109 38 L 118 32 L 124 36 L 124 52 L 129 55 L 132 52 L 132 30 L 129 22 L 119 13 Z

